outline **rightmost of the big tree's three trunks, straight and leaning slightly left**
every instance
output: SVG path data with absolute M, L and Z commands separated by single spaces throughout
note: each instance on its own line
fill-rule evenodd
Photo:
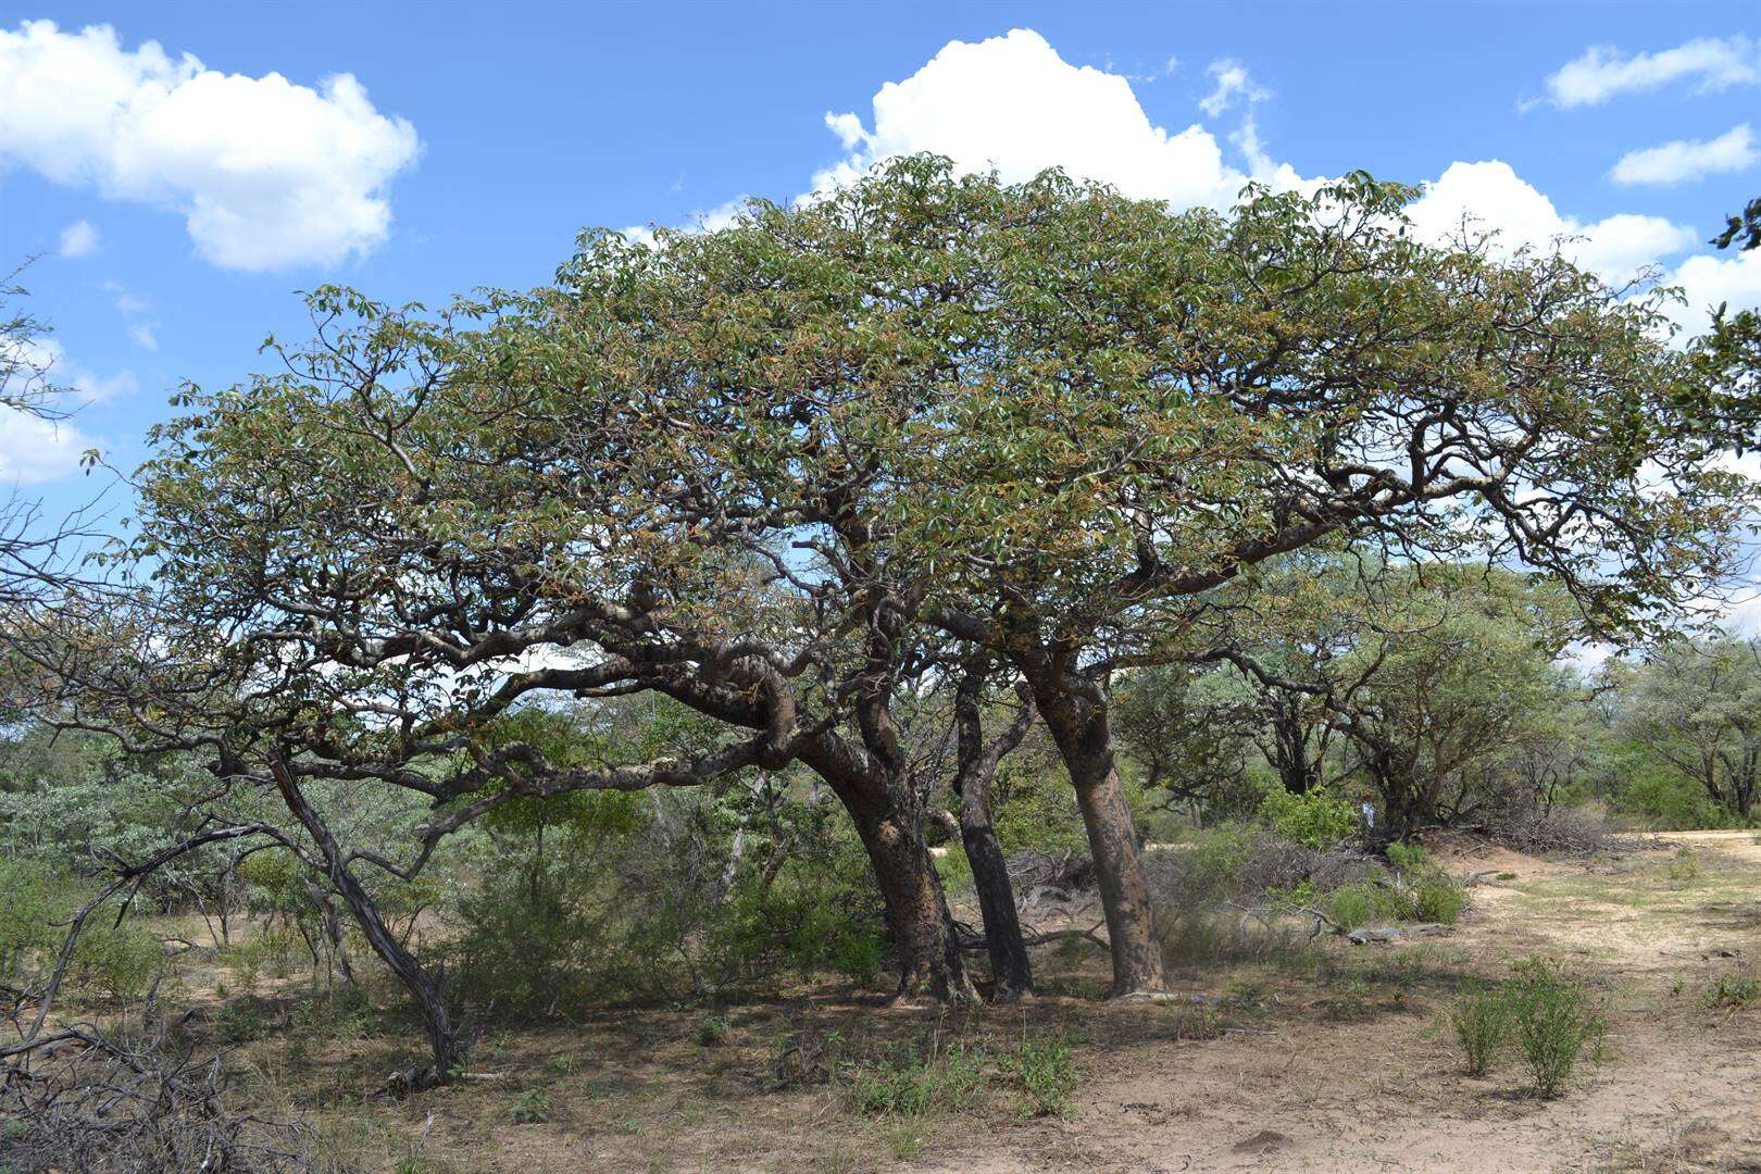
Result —
M 1067 766 L 1101 885 L 1101 908 L 1113 949 L 1113 994 L 1164 991 L 1168 973 L 1162 940 L 1155 929 L 1155 906 L 1143 878 L 1138 831 L 1125 806 L 1118 771 L 1113 769 L 1111 748 Z

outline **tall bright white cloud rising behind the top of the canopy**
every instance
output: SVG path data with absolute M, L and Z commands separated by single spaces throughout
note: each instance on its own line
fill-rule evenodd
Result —
M 880 86 L 868 125 L 854 113 L 826 114 L 826 125 L 847 155 L 815 176 L 815 190 L 914 151 L 947 155 L 962 171 L 995 167 L 1006 181 L 1064 167 L 1175 208 L 1229 204 L 1249 178 L 1205 127 L 1157 127 L 1125 77 L 1071 65 L 1028 28 L 951 40 L 910 77 Z

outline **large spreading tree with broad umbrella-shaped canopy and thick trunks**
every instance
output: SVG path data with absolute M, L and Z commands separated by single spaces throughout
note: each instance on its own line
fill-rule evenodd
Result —
M 511 797 L 803 762 L 868 848 L 902 989 L 958 998 L 895 706 L 925 665 L 995 660 L 1076 789 L 1113 989 L 1155 989 L 1109 690 L 1227 655 L 1219 588 L 1370 542 L 1527 563 L 1632 632 L 1729 560 L 1742 482 L 1684 428 L 1655 306 L 1421 243 L 1411 195 L 1171 213 L 919 157 L 653 248 L 590 234 L 555 287 L 447 315 L 324 292 L 313 347 L 158 433 L 139 646 L 206 676 L 125 708 L 289 803 L 426 794 L 424 845 Z M 634 690 L 726 741 L 579 764 L 502 729 Z

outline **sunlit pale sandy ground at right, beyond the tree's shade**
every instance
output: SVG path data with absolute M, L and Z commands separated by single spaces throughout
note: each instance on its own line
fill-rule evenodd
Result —
M 1608 1054 L 1558 1100 L 1523 1093 L 1520 1072 L 1460 1075 L 1435 1009 L 1280 1024 L 1162 1049 L 1090 1084 L 1071 1123 L 909 1169 L 1761 1170 L 1761 1010 L 1699 1002 L 1717 975 L 1754 973 L 1761 845 L 1754 833 L 1666 840 L 1696 854 L 1694 880 L 1659 884 L 1668 850 L 1603 866 L 1456 854 L 1502 877 L 1476 887 L 1449 938 L 1472 970 L 1551 954 L 1606 1000 Z

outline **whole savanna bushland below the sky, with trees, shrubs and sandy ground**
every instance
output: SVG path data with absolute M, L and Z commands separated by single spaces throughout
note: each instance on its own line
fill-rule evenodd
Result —
M 310 294 L 0 525 L 0 1169 L 1761 1155 L 1754 317 L 1412 195 Z

